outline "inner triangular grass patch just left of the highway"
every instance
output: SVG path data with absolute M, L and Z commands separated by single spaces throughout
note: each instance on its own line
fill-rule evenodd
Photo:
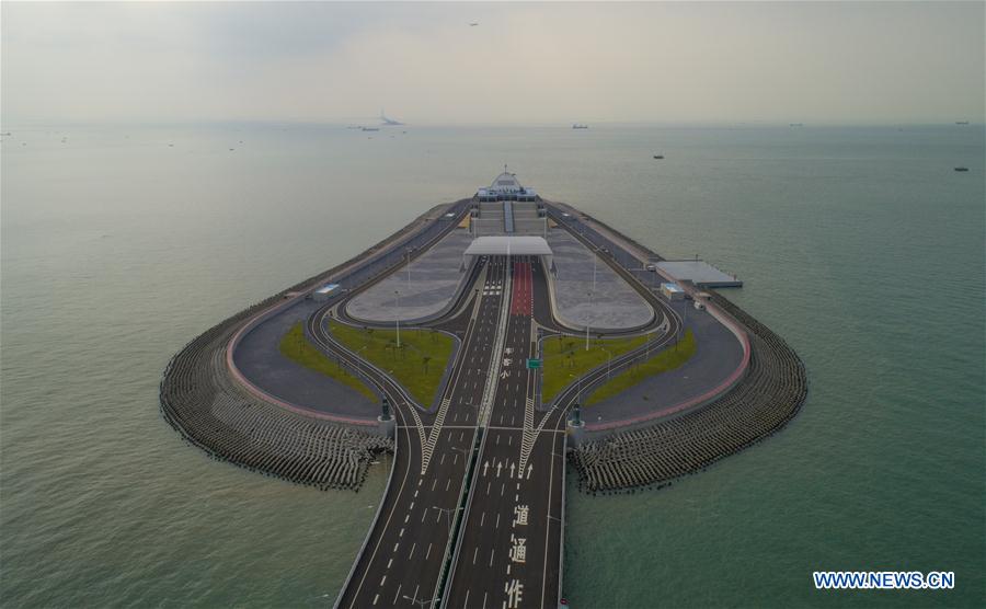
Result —
M 436 330 L 402 330 L 398 348 L 393 330 L 354 328 L 335 320 L 329 321 L 329 330 L 359 357 L 389 371 L 419 404 L 432 405 L 451 355 L 451 336 Z

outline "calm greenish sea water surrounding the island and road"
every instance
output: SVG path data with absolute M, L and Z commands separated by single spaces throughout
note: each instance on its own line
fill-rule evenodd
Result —
M 8 129 L 4 607 L 331 605 L 388 463 L 352 493 L 211 461 L 160 417 L 161 371 L 504 163 L 666 257 L 737 274 L 727 296 L 809 371 L 786 429 L 707 472 L 606 497 L 570 480 L 572 606 L 986 605 L 981 125 Z M 956 585 L 816 591 L 818 570 Z

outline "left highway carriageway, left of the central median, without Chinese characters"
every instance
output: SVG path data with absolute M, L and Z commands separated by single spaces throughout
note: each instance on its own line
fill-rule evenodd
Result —
M 438 594 L 477 444 L 477 416 L 507 281 L 504 261 L 481 265 L 471 295 L 442 324 L 461 332 L 462 342 L 438 409 L 428 413 L 381 381 L 397 405 L 394 473 L 339 607 L 413 606 Z

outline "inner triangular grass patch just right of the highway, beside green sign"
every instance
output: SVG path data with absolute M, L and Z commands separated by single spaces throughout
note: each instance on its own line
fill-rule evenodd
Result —
M 596 366 L 606 364 L 609 354 L 617 357 L 647 342 L 646 336 L 630 338 L 594 338 L 585 348 L 585 338 L 576 336 L 552 336 L 542 343 L 541 356 L 544 372 L 541 377 L 541 401 L 546 404 L 565 386 Z M 609 353 L 606 352 L 609 349 Z

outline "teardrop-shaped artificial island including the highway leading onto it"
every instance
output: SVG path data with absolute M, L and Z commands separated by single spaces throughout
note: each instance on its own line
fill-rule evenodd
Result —
M 188 343 L 161 411 L 300 484 L 389 464 L 336 607 L 558 607 L 566 469 L 591 495 L 660 487 L 803 403 L 795 353 L 716 291 L 737 285 L 505 170 Z

